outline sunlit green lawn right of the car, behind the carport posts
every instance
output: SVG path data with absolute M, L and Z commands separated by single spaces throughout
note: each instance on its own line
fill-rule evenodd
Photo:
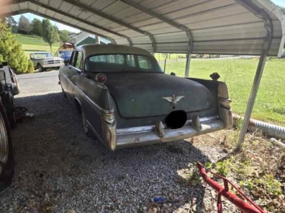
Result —
M 258 59 L 191 59 L 190 77 L 211 79 L 220 74 L 228 84 L 234 113 L 246 111 Z M 169 62 L 166 73 L 184 76 L 185 62 Z M 285 59 L 268 59 L 262 75 L 252 117 L 285 126 Z

